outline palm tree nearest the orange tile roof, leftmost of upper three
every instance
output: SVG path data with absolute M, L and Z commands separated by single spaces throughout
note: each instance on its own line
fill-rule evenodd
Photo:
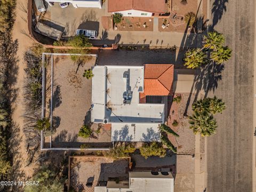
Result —
M 207 55 L 200 52 L 200 49 L 191 49 L 186 52 L 185 64 L 189 69 L 196 69 L 206 62 Z

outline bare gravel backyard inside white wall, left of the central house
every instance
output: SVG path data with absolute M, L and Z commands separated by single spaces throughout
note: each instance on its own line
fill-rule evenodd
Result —
M 83 143 L 110 142 L 110 131 L 100 129 L 94 138 L 83 139 L 77 134 L 81 126 L 90 123 L 91 79 L 83 77 L 84 70 L 95 65 L 95 57 L 81 66 L 74 63 L 69 56 L 54 56 L 53 61 L 53 99 L 52 121 L 56 133 L 52 136 L 52 147 L 81 147 Z M 50 73 L 51 66 L 47 68 Z M 49 83 L 49 75 L 47 75 Z M 50 111 L 51 91 L 46 93 L 46 108 Z M 46 115 L 47 116 L 47 115 Z M 93 124 L 91 129 L 99 128 Z M 49 138 L 46 138 L 45 141 Z

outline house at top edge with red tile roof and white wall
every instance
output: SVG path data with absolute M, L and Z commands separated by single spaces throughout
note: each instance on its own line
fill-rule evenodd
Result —
M 108 0 L 108 12 L 124 17 L 151 17 L 165 13 L 165 0 Z

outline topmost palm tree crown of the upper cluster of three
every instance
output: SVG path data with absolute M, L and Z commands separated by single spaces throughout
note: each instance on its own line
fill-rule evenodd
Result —
M 218 47 L 221 47 L 225 42 L 224 36 L 217 31 L 209 32 L 207 36 L 204 36 L 203 48 L 217 50 Z

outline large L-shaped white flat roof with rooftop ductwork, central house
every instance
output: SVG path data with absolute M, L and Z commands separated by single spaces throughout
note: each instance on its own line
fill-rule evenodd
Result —
M 124 104 L 129 73 L 131 103 Z M 163 123 L 164 104 L 139 103 L 143 92 L 143 66 L 96 66 L 92 78 L 92 114 L 95 123 Z

